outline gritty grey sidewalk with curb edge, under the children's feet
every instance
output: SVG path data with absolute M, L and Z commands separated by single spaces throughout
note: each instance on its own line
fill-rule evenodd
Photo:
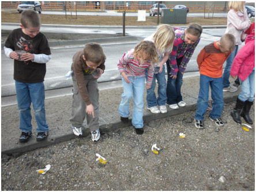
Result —
M 110 82 L 111 83 L 111 82 Z M 71 92 L 72 87 L 70 87 Z M 157 87 L 156 87 L 157 89 Z M 189 110 L 195 110 L 197 106 L 197 98 L 199 91 L 199 76 L 183 78 L 182 95 L 183 101 L 187 103 L 187 106 L 180 107 L 178 110 L 168 108 L 168 112 L 165 114 L 152 114 L 146 109 L 146 89 L 144 90 L 144 123 L 159 118 L 173 116 L 187 112 Z M 123 93 L 122 87 L 113 89 L 101 89 L 100 90 L 100 131 L 101 133 L 111 132 L 112 130 L 121 128 L 123 123 L 120 121 L 118 106 L 121 101 L 121 94 Z M 235 101 L 236 97 L 240 93 L 240 88 L 235 93 L 224 92 L 224 102 Z M 210 95 L 210 94 L 209 94 Z M 17 105 L 2 107 L 2 153 L 24 153 L 36 148 L 46 147 L 48 145 L 56 144 L 62 141 L 67 141 L 76 138 L 74 136 L 71 125 L 69 122 L 71 114 L 71 100 L 72 95 L 63 97 L 46 99 L 46 118 L 47 124 L 50 128 L 50 135 L 46 141 L 36 141 L 36 122 L 32 109 L 32 138 L 28 143 L 18 143 L 20 136 L 20 130 L 18 129 L 19 118 Z M 131 103 L 133 103 L 131 101 Z M 130 105 L 130 113 L 132 114 L 132 104 Z M 130 117 L 131 118 L 131 114 Z M 193 123 L 193 122 L 191 122 Z M 84 123 L 86 128 L 86 122 Z M 89 129 L 84 129 L 84 137 L 91 140 L 91 133 Z

